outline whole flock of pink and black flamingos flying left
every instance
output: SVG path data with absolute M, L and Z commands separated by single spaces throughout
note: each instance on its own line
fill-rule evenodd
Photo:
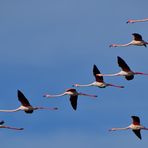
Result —
M 127 21 L 127 23 L 136 23 L 136 22 L 146 22 L 148 21 L 148 18 L 141 19 L 141 20 L 134 20 L 130 19 Z M 129 43 L 126 44 L 111 44 L 109 47 L 126 47 L 130 45 L 135 45 L 135 46 L 144 46 L 147 47 L 148 42 L 144 41 L 142 38 L 142 35 L 139 33 L 133 33 L 133 40 L 130 41 Z M 72 86 L 73 87 L 90 87 L 90 86 L 95 86 L 98 88 L 106 88 L 106 87 L 115 87 L 115 88 L 124 88 L 122 85 L 116 85 L 116 84 L 111 84 L 111 83 L 106 83 L 104 81 L 104 76 L 123 76 L 125 77 L 126 80 L 133 80 L 135 75 L 145 75 L 148 76 L 148 73 L 144 72 L 136 72 L 131 70 L 129 65 L 125 62 L 123 58 L 120 56 L 117 56 L 117 63 L 118 66 L 121 68 L 121 71 L 114 73 L 114 74 L 103 74 L 100 72 L 98 67 L 94 64 L 93 65 L 93 76 L 95 78 L 94 82 L 88 83 L 88 84 L 79 84 L 75 83 Z M 78 92 L 75 88 L 69 88 L 66 89 L 63 93 L 60 94 L 44 94 L 43 97 L 45 98 L 56 98 L 56 97 L 62 97 L 62 96 L 69 96 L 69 101 L 70 105 L 73 110 L 77 110 L 77 104 L 78 104 L 78 96 L 85 96 L 85 97 L 90 97 L 90 98 L 96 98 L 97 95 L 94 94 L 86 94 L 82 92 Z M 32 114 L 35 110 L 57 110 L 57 107 L 42 107 L 42 106 L 32 106 L 26 96 L 23 94 L 22 91 L 18 90 L 17 91 L 17 97 L 18 101 L 21 103 L 21 105 L 16 108 L 16 109 L 9 109 L 9 110 L 0 110 L 0 112 L 18 112 L 18 111 L 24 111 L 27 114 Z M 121 127 L 121 128 L 111 128 L 109 131 L 117 131 L 117 130 L 132 130 L 133 133 L 139 138 L 142 139 L 141 136 L 141 130 L 148 130 L 145 126 L 141 125 L 140 123 L 140 118 L 138 116 L 131 116 L 132 118 L 132 123 L 127 126 L 127 127 Z M 4 125 L 4 121 L 0 121 L 0 128 L 7 128 L 11 130 L 23 130 L 24 128 L 17 128 L 17 127 L 11 127 Z

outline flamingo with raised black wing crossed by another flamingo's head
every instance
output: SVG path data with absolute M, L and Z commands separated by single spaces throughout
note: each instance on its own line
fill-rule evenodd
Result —
M 105 88 L 107 86 L 113 86 L 113 87 L 117 87 L 117 88 L 124 88 L 124 86 L 117 86 L 117 85 L 114 85 L 114 84 L 105 83 L 104 80 L 103 80 L 103 76 L 97 76 L 97 74 L 100 74 L 100 71 L 97 68 L 97 66 L 94 64 L 94 66 L 93 66 L 93 75 L 94 75 L 96 81 L 93 82 L 93 83 L 90 83 L 90 84 L 85 84 L 85 85 L 74 84 L 73 86 L 76 86 L 76 87 L 79 87 L 79 86 L 82 86 L 82 87 L 85 87 L 85 86 L 86 87 L 87 86 L 97 86 L 99 88 Z

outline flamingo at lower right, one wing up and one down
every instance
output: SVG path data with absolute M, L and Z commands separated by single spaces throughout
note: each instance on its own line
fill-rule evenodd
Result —
M 131 116 L 131 118 L 132 118 L 133 121 L 132 121 L 132 124 L 130 124 L 129 126 L 124 127 L 124 128 L 112 128 L 112 129 L 109 129 L 109 131 L 128 130 L 128 129 L 131 129 L 139 139 L 142 139 L 140 131 L 141 130 L 148 130 L 148 128 L 146 128 L 146 127 L 144 127 L 144 126 L 142 126 L 140 124 L 139 117 L 137 117 L 137 116 Z

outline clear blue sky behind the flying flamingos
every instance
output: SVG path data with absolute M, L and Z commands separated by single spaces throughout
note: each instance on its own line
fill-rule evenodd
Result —
M 147 48 L 109 48 L 127 43 L 131 34 L 148 40 L 148 23 L 126 24 L 130 18 L 147 18 L 146 0 L 5 0 L 0 2 L 0 109 L 20 105 L 17 89 L 32 105 L 59 107 L 58 111 L 0 113 L 7 125 L 24 127 L 22 132 L 0 130 L 2 147 L 146 147 L 131 131 L 108 132 L 128 126 L 137 115 L 148 127 L 146 76 L 133 81 L 105 77 L 124 89 L 78 88 L 96 94 L 92 100 L 79 97 L 73 111 L 68 96 L 45 99 L 44 93 L 62 93 L 74 83 L 94 81 L 93 64 L 102 73 L 118 72 L 117 56 L 135 71 L 148 72 Z M 138 10 L 138 11 L 137 11 Z M 9 142 L 8 142 L 9 141 Z

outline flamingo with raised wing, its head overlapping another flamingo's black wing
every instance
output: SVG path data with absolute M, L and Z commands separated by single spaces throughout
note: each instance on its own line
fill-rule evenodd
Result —
M 115 74 L 97 74 L 97 76 L 125 76 L 127 80 L 134 79 L 134 75 L 148 75 L 143 72 L 133 72 L 126 62 L 121 58 L 117 57 L 118 65 L 122 69 L 120 72 Z

